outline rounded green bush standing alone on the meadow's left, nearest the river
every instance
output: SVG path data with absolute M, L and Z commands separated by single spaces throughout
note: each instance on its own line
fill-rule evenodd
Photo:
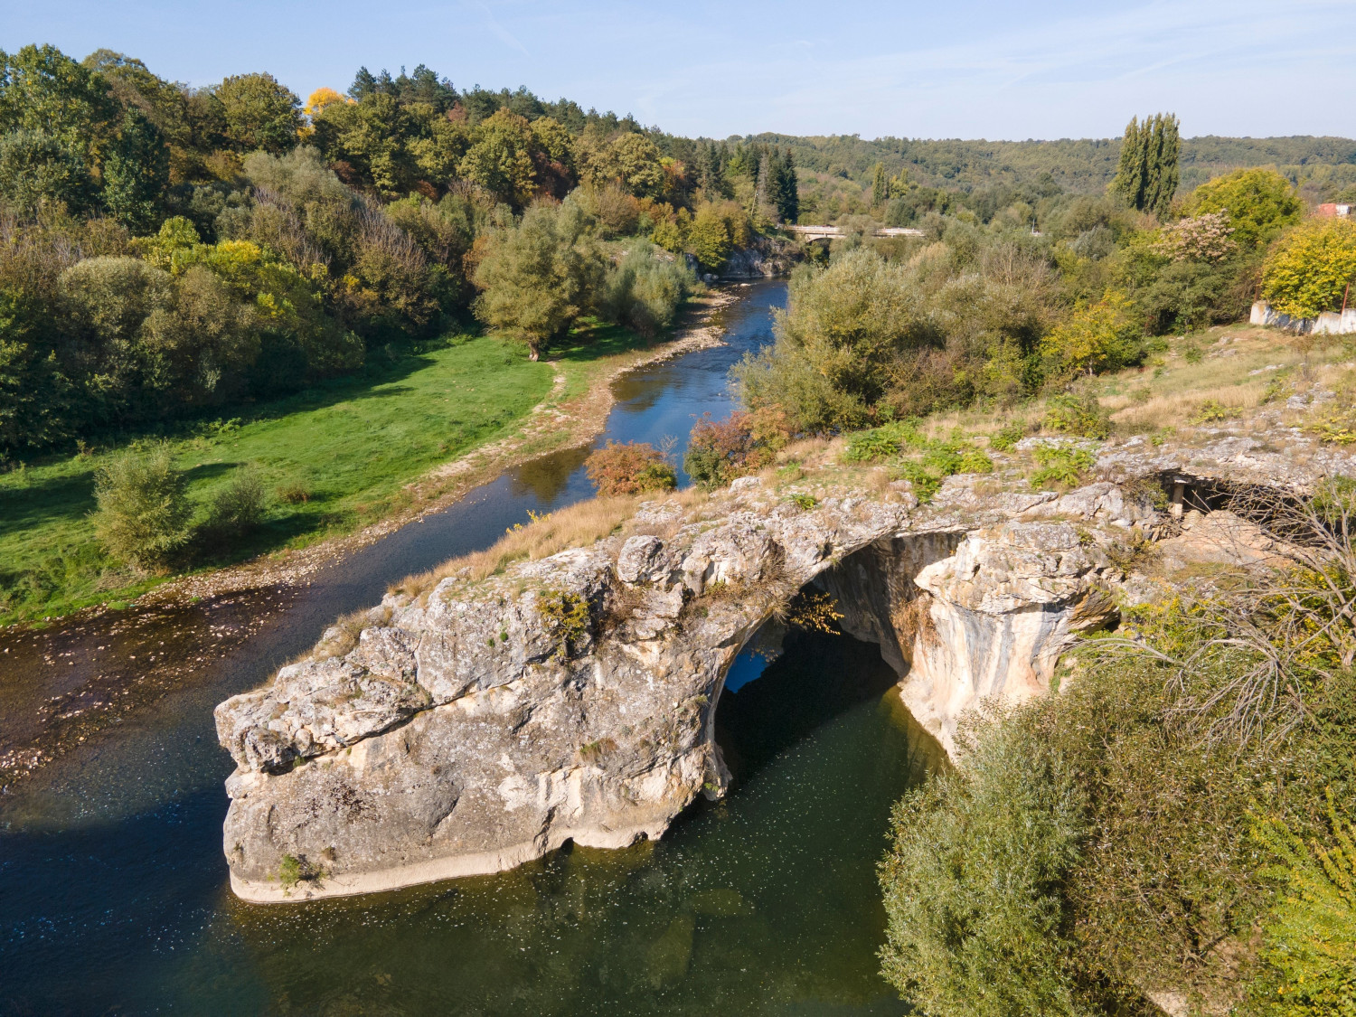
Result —
M 94 526 L 104 549 L 144 571 L 163 571 L 188 540 L 193 509 L 164 445 L 108 458 L 95 477 Z

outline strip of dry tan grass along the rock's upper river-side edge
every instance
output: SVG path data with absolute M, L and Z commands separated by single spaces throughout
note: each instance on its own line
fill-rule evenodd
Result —
M 537 561 L 567 548 L 589 546 L 620 529 L 635 515 L 636 506 L 643 500 L 641 495 L 595 498 L 560 509 L 522 529 L 510 530 L 484 551 L 462 555 L 428 572 L 407 576 L 388 591 L 419 597 L 458 572 L 475 582 L 503 571 L 514 561 Z

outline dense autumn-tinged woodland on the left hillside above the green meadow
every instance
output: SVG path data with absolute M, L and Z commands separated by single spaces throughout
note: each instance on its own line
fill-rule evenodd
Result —
M 302 106 L 267 73 L 0 53 L 0 458 L 294 391 L 466 312 L 533 358 L 590 315 L 654 334 L 796 193 L 774 146 L 426 66 Z

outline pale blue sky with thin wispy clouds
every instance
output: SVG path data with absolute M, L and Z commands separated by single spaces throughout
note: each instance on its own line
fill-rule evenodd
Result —
M 0 0 L 0 49 L 100 46 L 305 98 L 426 64 L 675 134 L 1356 137 L 1356 0 Z

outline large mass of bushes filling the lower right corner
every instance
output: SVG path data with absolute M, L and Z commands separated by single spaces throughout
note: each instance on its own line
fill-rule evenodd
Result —
M 900 803 L 883 957 L 913 1002 L 1142 1013 L 1136 997 L 1172 993 L 1192 1013 L 1352 1012 L 1356 831 L 1321 804 L 1356 786 L 1356 637 L 1333 624 L 1356 601 L 1353 487 L 1235 499 L 1298 541 L 1290 567 L 1128 613 L 1128 637 L 1085 643 L 1067 687 L 972 728 L 960 770 Z M 1028 959 L 1024 933 L 1047 953 Z M 1231 1009 L 1258 960 L 1250 1006 Z

